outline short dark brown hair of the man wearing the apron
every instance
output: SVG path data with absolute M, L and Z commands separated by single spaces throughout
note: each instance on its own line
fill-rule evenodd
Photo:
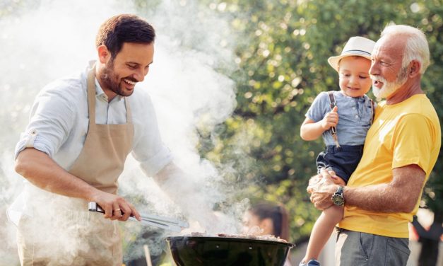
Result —
M 115 58 L 124 42 L 150 44 L 155 39 L 155 30 L 148 22 L 135 15 L 122 14 L 105 21 L 98 30 L 95 46 L 105 45 Z

